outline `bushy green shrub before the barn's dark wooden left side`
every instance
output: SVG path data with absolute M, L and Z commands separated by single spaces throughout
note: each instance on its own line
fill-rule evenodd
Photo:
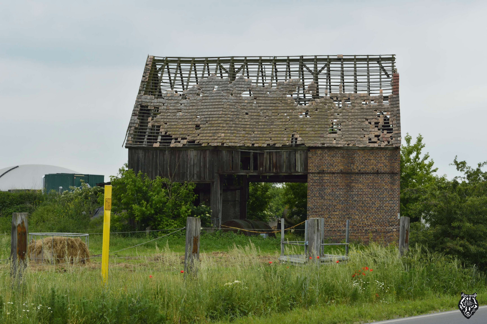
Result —
M 191 216 L 195 199 L 194 184 L 150 177 L 135 172 L 127 165 L 119 169 L 112 182 L 112 213 L 119 229 L 180 228 Z

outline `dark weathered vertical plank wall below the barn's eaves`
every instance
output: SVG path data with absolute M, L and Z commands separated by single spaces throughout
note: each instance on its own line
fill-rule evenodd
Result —
M 242 172 L 239 150 L 129 149 L 129 168 L 150 178 L 164 176 L 172 181 L 214 181 L 216 173 Z M 306 173 L 308 152 L 264 151 L 258 156 L 259 170 L 253 173 Z M 250 172 L 249 172 L 250 173 Z

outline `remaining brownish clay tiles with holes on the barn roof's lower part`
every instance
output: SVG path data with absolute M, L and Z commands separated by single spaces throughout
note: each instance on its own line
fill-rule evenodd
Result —
M 400 146 L 398 89 L 386 99 L 341 91 L 317 97 L 311 82 L 304 93 L 314 99 L 299 105 L 292 95 L 300 87 L 299 79 L 258 87 L 243 75 L 230 81 L 213 74 L 183 93 L 141 92 L 126 147 Z

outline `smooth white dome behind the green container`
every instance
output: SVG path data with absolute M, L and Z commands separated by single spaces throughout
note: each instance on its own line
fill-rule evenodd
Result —
M 23 164 L 0 169 L 0 191 L 42 190 L 42 177 L 48 173 L 78 173 L 45 164 Z

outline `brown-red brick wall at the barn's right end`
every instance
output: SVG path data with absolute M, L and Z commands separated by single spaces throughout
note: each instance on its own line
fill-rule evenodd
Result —
M 393 243 L 399 236 L 399 149 L 311 149 L 308 217 L 324 217 L 325 238 Z

